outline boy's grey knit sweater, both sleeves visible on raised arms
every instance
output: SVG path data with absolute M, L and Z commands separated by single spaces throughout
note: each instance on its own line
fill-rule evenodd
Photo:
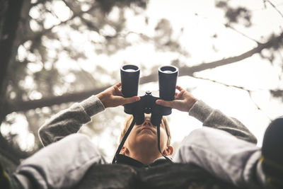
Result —
M 70 108 L 52 116 L 40 127 L 39 136 L 42 144 L 47 146 L 78 132 L 83 124 L 91 121 L 91 116 L 103 110 L 105 110 L 104 105 L 96 96 L 91 96 L 81 103 L 74 103 Z M 189 115 L 200 120 L 203 126 L 224 130 L 239 139 L 257 143 L 256 137 L 240 121 L 224 115 L 219 110 L 214 110 L 202 101 L 197 101 L 192 106 Z

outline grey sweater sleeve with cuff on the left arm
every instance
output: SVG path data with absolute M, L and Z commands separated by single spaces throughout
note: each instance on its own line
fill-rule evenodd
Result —
M 76 133 L 83 124 L 91 121 L 91 116 L 105 110 L 103 103 L 96 96 L 91 96 L 81 103 L 74 103 L 47 120 L 38 130 L 43 146 Z

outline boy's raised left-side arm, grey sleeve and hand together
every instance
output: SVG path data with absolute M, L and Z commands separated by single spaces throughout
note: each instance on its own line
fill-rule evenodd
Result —
M 81 103 L 74 103 L 70 108 L 52 116 L 38 131 L 43 146 L 78 132 L 83 124 L 91 121 L 91 116 L 102 112 L 105 108 L 139 101 L 137 96 L 123 98 L 120 86 L 121 83 L 111 86 L 98 95 L 91 96 Z

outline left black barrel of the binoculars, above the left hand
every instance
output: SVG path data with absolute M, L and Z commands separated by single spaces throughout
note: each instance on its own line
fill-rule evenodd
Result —
M 139 67 L 129 64 L 120 69 L 122 96 L 125 98 L 137 96 L 139 87 L 139 72 Z

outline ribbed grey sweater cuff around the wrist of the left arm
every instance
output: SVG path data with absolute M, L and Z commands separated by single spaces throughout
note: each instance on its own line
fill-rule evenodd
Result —
M 96 115 L 97 113 L 100 113 L 103 110 L 105 110 L 103 103 L 99 100 L 99 98 L 97 98 L 94 95 L 82 101 L 80 105 L 89 115 L 89 117 Z

